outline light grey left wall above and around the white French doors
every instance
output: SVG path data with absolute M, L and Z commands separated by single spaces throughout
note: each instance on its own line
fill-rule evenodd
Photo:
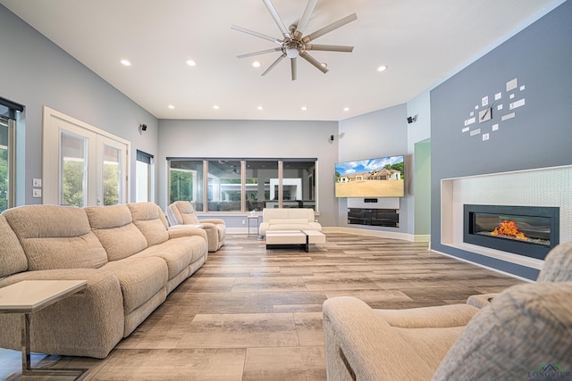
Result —
M 21 194 L 24 197 L 16 200 L 19 205 L 41 203 L 41 199 L 31 197 L 31 189 L 32 178 L 42 177 L 42 111 L 45 105 L 130 140 L 132 176 L 135 175 L 133 153 L 136 149 L 156 155 L 158 122 L 153 115 L 3 5 L 0 5 L 0 52 L 0 96 L 26 107 L 23 115 L 25 141 L 19 142 L 25 150 L 25 162 L 19 160 L 16 170 L 18 184 L 25 186 Z M 138 132 L 141 123 L 147 124 L 143 135 Z M 134 186 L 131 186 L 130 197 L 135 199 Z

